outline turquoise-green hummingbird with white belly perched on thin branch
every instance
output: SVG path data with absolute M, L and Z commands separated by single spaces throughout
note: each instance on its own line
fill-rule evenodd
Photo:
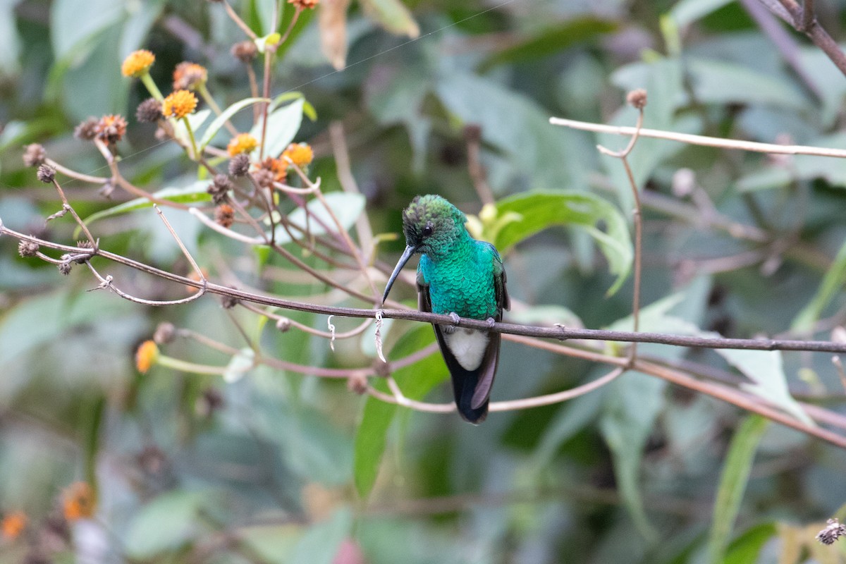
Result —
M 412 255 L 417 266 L 420 311 L 486 320 L 490 326 L 508 309 L 503 260 L 490 243 L 470 236 L 467 217 L 441 196 L 416 196 L 403 211 L 405 251 L 387 280 L 382 303 Z M 432 325 L 453 381 L 455 405 L 464 420 L 480 424 L 487 417 L 493 376 L 499 360 L 499 333 Z

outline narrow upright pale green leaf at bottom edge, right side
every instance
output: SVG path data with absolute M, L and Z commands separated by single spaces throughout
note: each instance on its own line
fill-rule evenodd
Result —
M 728 447 L 717 489 L 717 501 L 714 502 L 713 523 L 708 534 L 708 560 L 712 564 L 720 564 L 726 554 L 734 520 L 749 482 L 752 461 L 767 423 L 767 419 L 761 415 L 750 415 L 735 431 Z

